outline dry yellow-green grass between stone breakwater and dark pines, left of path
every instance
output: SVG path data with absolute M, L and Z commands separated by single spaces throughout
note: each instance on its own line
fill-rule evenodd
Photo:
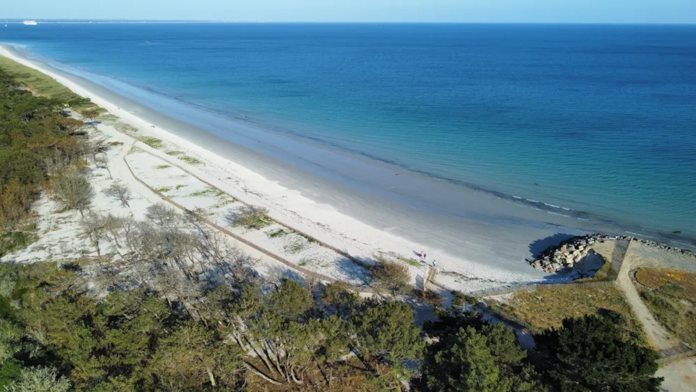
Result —
M 567 288 L 518 292 L 500 309 L 536 329 L 558 328 L 564 318 L 600 314 L 603 309 L 621 313 L 628 332 L 648 346 L 647 336 L 621 290 L 614 287 Z M 492 306 L 491 306 L 492 307 Z

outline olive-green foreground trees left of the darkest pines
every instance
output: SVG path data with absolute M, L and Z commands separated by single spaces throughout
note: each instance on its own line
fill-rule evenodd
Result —
M 294 281 L 238 282 L 186 304 L 116 287 L 97 298 L 77 264 L 0 265 L 0 283 L 4 385 L 38 367 L 79 391 L 340 391 L 356 380 L 379 391 L 408 379 L 425 345 L 406 304 L 340 285 L 314 296 Z

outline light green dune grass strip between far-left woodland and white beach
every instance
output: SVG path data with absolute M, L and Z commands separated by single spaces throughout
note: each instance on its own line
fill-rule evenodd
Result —
M 96 107 L 88 98 L 73 93 L 70 88 L 63 86 L 42 72 L 25 67 L 5 56 L 0 56 L 0 68 L 12 75 L 19 83 L 24 84 L 35 95 L 56 98 L 66 102 L 74 110 Z

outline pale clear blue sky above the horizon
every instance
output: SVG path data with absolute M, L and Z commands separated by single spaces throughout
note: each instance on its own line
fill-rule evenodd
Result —
M 0 18 L 696 23 L 696 0 L 2 0 Z

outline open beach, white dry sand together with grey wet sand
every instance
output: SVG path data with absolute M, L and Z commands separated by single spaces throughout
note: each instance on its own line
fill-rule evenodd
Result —
M 245 189 L 247 187 L 251 189 L 251 195 L 243 195 L 245 198 L 251 196 L 251 200 L 247 199 L 248 201 L 269 207 L 272 213 L 278 213 L 280 220 L 288 221 L 292 226 L 298 226 L 299 223 L 303 225 L 303 231 L 322 238 L 325 242 L 335 242 L 336 246 L 356 256 L 369 257 L 378 251 L 408 254 L 425 250 L 429 254 L 429 260 L 437 260 L 438 265 L 448 271 L 471 279 L 483 279 L 501 285 L 529 283 L 544 279 L 556 281 L 562 277 L 544 276 L 531 269 L 524 261 L 525 256 L 535 256 L 534 253 L 540 248 L 546 248 L 553 241 L 562 240 L 559 237 L 584 235 L 596 231 L 617 233 L 617 230 L 608 230 L 600 225 L 587 228 L 566 226 L 564 222 L 579 218 L 555 216 L 557 214 L 551 211 L 543 212 L 543 215 L 548 217 L 543 217 L 544 221 L 539 221 L 540 214 L 535 214 L 532 210 L 535 208 L 533 205 L 532 208 L 523 207 L 518 205 L 520 201 L 502 198 L 500 195 L 491 194 L 488 195 L 491 197 L 485 197 L 487 195 L 473 194 L 473 191 L 470 191 L 468 195 L 465 195 L 468 199 L 455 200 L 461 196 L 461 192 L 447 192 L 448 187 L 453 189 L 455 185 L 441 184 L 440 182 L 443 181 L 438 182 L 434 178 L 426 178 L 425 180 L 429 182 L 424 183 L 434 184 L 438 190 L 444 189 L 443 194 L 447 195 L 440 197 L 438 200 L 442 202 L 440 205 L 425 205 L 430 199 L 415 200 L 416 203 L 425 205 L 426 211 L 409 207 L 409 203 L 406 202 L 411 200 L 401 203 L 402 201 L 398 198 L 404 196 L 398 194 L 399 189 L 389 191 L 388 195 L 368 195 L 385 196 L 386 201 L 375 201 L 374 198 L 365 197 L 355 191 L 351 185 L 355 185 L 355 188 L 359 185 L 351 182 L 350 179 L 342 184 L 329 186 L 324 184 L 326 176 L 306 175 L 299 169 L 292 170 L 285 167 L 287 164 L 283 162 L 282 157 L 274 157 L 273 151 L 260 154 L 254 150 L 255 147 L 265 146 L 266 143 L 271 146 L 271 150 L 282 143 L 293 143 L 293 147 L 305 148 L 303 143 L 287 136 L 278 136 L 278 140 L 262 139 L 258 135 L 247 137 L 245 132 L 251 134 L 254 131 L 250 126 L 235 130 L 235 136 L 242 139 L 229 141 L 221 134 L 207 132 L 210 127 L 216 126 L 214 123 L 205 123 L 205 121 L 212 121 L 210 118 L 170 118 L 166 113 L 171 113 L 172 108 L 166 108 L 169 109 L 167 111 L 158 111 L 138 101 L 134 104 L 129 102 L 131 98 L 128 95 L 109 88 L 111 86 L 102 86 L 84 79 L 79 74 L 73 75 L 42 61 L 25 58 L 22 60 L 29 63 L 25 65 L 44 72 L 79 95 L 90 97 L 95 103 L 109 109 L 112 114 L 124 118 L 128 123 L 139 123 L 141 125 L 139 127 L 150 128 L 154 132 L 153 136 L 185 145 L 187 149 L 195 151 L 198 156 L 205 157 L 209 161 L 205 170 L 206 175 L 222 182 L 228 182 L 230 178 L 237 180 L 241 178 Z M 120 81 L 106 80 L 107 83 L 120 83 Z M 80 91 L 76 91 L 73 86 Z M 108 102 L 111 108 L 107 108 L 97 100 Z M 181 102 L 175 102 L 175 104 L 183 106 Z M 126 115 L 132 118 L 126 118 Z M 197 121 L 199 123 L 196 123 Z M 192 139 L 196 141 L 192 142 Z M 235 142 L 239 140 L 243 143 L 235 145 Z M 308 150 L 308 154 L 317 153 L 326 154 L 324 157 L 326 160 L 336 160 L 337 164 L 354 165 L 355 171 L 365 170 L 367 167 L 367 165 L 360 166 L 359 159 L 337 154 L 335 151 Z M 297 162 L 292 163 L 297 164 Z M 301 164 L 303 162 L 297 166 Z M 313 167 L 306 168 L 309 172 L 312 169 L 316 171 Z M 370 172 L 374 182 L 393 181 L 393 168 L 387 165 L 368 168 L 379 169 L 379 175 Z M 327 172 L 330 169 L 324 168 Z M 408 178 L 419 183 L 424 180 L 423 173 L 401 174 L 402 180 Z M 395 183 L 395 185 L 400 184 Z M 365 191 L 365 189 L 360 190 Z M 377 187 L 372 190 L 383 191 Z M 482 193 L 485 191 L 482 190 Z M 233 194 L 232 191 L 230 194 Z M 454 217 L 447 215 L 450 211 L 446 211 L 445 207 L 467 203 L 479 207 L 480 211 L 461 210 L 462 213 L 459 215 L 456 215 L 457 211 L 454 211 L 456 215 Z M 505 210 L 500 210 L 501 207 Z M 494 219 L 493 222 L 491 218 Z M 454 282 L 450 286 L 462 283 L 457 282 L 457 278 L 450 279 L 443 276 L 441 279 Z

